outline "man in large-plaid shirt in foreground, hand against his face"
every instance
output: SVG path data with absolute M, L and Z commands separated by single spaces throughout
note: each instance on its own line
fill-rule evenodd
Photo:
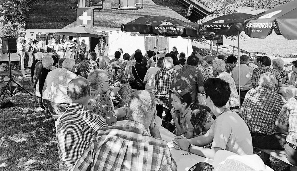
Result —
M 161 139 L 161 121 L 155 111 L 156 103 L 149 92 L 132 94 L 127 123 L 97 131 L 72 170 L 177 170 L 167 142 Z

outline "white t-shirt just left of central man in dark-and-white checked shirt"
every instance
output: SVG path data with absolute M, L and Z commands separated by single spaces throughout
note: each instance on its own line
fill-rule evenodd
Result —
M 146 71 L 146 76 L 144 76 L 143 81 L 146 81 L 146 86 L 144 87 L 146 91 L 151 94 L 155 94 L 155 76 L 156 72 L 159 71 L 161 68 L 159 67 L 150 67 L 148 71 Z

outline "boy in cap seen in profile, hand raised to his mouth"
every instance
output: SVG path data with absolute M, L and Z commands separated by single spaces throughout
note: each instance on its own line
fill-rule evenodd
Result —
M 190 104 L 192 103 L 192 97 L 188 90 L 170 90 L 173 93 L 171 105 L 171 115 L 173 122 L 176 126 L 176 135 L 182 135 L 186 138 L 193 138 L 194 127 L 190 121 L 190 115 L 192 110 Z M 177 111 L 180 111 L 179 116 Z M 180 124 L 178 123 L 180 121 Z

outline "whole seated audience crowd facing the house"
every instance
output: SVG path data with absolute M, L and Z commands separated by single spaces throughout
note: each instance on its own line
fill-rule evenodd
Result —
M 34 52 L 31 70 L 40 107 L 57 119 L 60 170 L 176 170 L 161 125 L 176 134 L 175 148 L 209 159 L 218 150 L 250 155 L 258 147 L 285 149 L 297 165 L 297 97 L 277 93 L 297 85 L 297 61 L 288 79 L 284 62 L 272 60 L 272 69 L 267 56 L 255 58 L 255 69 L 240 56 L 239 73 L 233 55 L 193 51 L 186 58 L 173 47 L 156 61 L 157 48 L 145 56 L 119 49 L 110 60 L 99 49 L 89 60 L 80 53 L 76 64 L 49 53 L 53 46 Z M 269 155 L 262 159 L 271 166 Z

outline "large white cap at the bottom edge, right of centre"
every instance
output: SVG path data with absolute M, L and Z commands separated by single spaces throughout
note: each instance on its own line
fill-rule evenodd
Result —
M 214 155 L 214 171 L 273 171 L 257 155 L 239 156 L 227 150 L 219 150 Z

